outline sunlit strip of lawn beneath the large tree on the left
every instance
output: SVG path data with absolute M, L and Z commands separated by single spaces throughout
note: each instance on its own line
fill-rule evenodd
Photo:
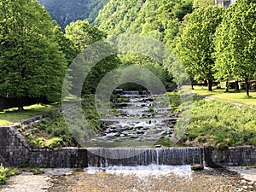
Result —
M 38 114 L 47 113 L 54 108 L 58 107 L 55 105 L 31 105 L 24 107 L 24 111 L 18 111 L 17 108 L 9 108 L 0 112 L 0 126 L 3 125 L 12 125 L 16 122 L 19 122 L 22 119 L 29 119 Z

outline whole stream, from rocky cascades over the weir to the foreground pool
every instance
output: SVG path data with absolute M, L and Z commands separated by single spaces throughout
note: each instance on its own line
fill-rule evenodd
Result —
M 204 164 L 203 148 L 150 148 L 159 138 L 172 137 L 178 116 L 170 108 L 152 110 L 157 103 L 146 91 L 144 96 L 136 90 L 124 94 L 129 101 L 115 103 L 119 113 L 102 117 L 104 130 L 88 143 L 88 168 L 50 176 L 44 191 L 256 191 L 256 182 L 236 172 L 191 171 L 191 165 Z

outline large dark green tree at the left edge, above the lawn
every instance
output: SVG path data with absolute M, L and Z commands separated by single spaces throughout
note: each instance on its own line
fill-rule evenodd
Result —
M 0 96 L 61 100 L 67 62 L 49 14 L 34 0 L 0 2 Z

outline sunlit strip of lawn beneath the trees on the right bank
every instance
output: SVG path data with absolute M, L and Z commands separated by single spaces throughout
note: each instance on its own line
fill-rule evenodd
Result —
M 208 91 L 207 87 L 203 87 L 202 89 L 201 86 L 195 86 L 194 88 L 195 90 L 192 90 L 192 92 L 201 96 L 210 96 L 228 102 L 239 102 L 246 105 L 256 106 L 255 91 L 250 92 L 250 97 L 247 97 L 245 90 L 230 90 L 229 92 L 225 92 L 225 90 Z

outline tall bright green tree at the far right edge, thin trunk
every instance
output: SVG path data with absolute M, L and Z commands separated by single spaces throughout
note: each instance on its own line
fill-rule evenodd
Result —
M 243 79 L 249 96 L 249 81 L 256 72 L 256 5 L 238 0 L 227 9 L 215 38 L 216 77 Z

